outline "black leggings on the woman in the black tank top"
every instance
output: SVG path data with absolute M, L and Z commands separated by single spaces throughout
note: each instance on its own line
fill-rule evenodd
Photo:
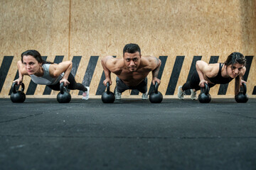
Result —
M 182 90 L 183 91 L 186 91 L 188 89 L 195 89 L 196 91 L 200 90 L 200 86 L 199 86 L 199 83 L 200 83 L 200 79 L 199 79 L 199 76 L 198 76 L 198 72 L 195 71 L 193 72 L 192 76 L 191 76 L 191 79 L 188 79 L 188 81 L 186 81 L 185 84 L 183 84 L 182 86 Z M 210 87 L 213 87 L 215 86 L 215 84 L 208 84 L 209 88 Z

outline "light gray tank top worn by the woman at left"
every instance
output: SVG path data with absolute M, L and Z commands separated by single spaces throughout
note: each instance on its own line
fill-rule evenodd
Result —
M 42 77 L 37 77 L 33 74 L 31 74 L 31 79 L 35 84 L 43 84 L 43 85 L 53 85 L 53 84 L 57 84 L 58 81 L 60 81 L 60 79 L 63 78 L 64 73 L 60 74 L 59 77 L 53 78 L 50 77 L 49 74 L 49 67 L 50 64 L 43 64 L 43 76 Z

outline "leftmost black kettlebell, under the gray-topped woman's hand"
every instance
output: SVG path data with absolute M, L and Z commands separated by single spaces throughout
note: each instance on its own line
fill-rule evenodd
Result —
M 14 82 L 11 86 L 11 101 L 14 103 L 23 103 L 26 99 L 26 95 L 24 94 L 25 86 L 23 83 L 21 83 L 21 91 L 16 90 L 16 86 L 19 86 L 17 82 Z

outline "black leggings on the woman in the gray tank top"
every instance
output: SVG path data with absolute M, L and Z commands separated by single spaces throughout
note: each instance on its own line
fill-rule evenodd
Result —
M 75 81 L 75 77 L 71 73 L 68 76 L 68 81 L 70 82 L 70 84 L 68 84 L 68 89 L 87 91 L 87 88 L 84 85 L 77 83 Z M 60 91 L 60 81 L 58 81 L 58 84 L 47 85 L 47 86 L 50 87 L 50 89 L 53 89 L 55 91 Z

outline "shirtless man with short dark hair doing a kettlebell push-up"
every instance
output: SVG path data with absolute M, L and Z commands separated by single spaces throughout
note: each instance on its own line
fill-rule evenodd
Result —
M 114 93 L 116 99 L 121 99 L 122 92 L 127 89 L 137 89 L 142 92 L 142 99 L 146 99 L 146 77 L 149 72 L 152 72 L 152 84 L 161 83 L 160 79 L 157 79 L 161 60 L 153 56 L 142 56 L 137 44 L 125 45 L 122 59 L 106 56 L 102 58 L 101 62 L 106 77 L 103 81 L 105 86 L 107 86 L 107 82 L 112 84 L 111 72 L 117 75 Z

